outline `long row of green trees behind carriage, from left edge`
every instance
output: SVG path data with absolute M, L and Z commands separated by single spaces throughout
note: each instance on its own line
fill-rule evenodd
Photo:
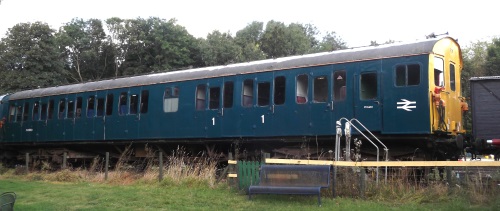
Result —
M 346 48 L 334 32 L 321 41 L 311 24 L 252 22 L 237 31 L 194 38 L 175 19 L 74 18 L 57 33 L 18 24 L 0 42 L 2 92 L 151 72 L 227 65 Z M 29 79 L 29 80 L 25 80 Z

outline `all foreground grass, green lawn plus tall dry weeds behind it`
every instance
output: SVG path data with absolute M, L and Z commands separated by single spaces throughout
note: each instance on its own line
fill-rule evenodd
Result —
M 141 161 L 145 169 L 136 171 L 128 165 L 128 156 L 123 153 L 107 180 L 102 159 L 88 169 L 53 171 L 43 164 L 28 174 L 24 168 L 0 164 L 0 192 L 16 192 L 16 210 L 500 210 L 497 187 L 481 177 L 467 180 L 464 188 L 449 189 L 439 181 L 411 184 L 404 176 L 409 172 L 403 170 L 388 184 L 375 186 L 367 180 L 365 199 L 360 199 L 359 176 L 344 168 L 336 190 L 340 197 L 324 190 L 323 206 L 318 207 L 315 196 L 255 195 L 248 200 L 227 182 L 216 182 L 216 161 L 193 159 L 182 149 L 166 158 L 160 182 L 154 159 Z

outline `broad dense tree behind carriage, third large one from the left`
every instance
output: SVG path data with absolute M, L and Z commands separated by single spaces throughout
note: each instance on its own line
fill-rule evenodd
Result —
M 203 65 L 199 43 L 175 19 L 125 20 L 124 33 L 126 52 L 120 66 L 124 75 Z

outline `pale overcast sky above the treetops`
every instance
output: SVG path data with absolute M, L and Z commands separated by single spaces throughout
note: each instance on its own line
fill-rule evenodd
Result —
M 311 23 L 335 31 L 348 46 L 374 40 L 413 41 L 449 32 L 462 46 L 500 37 L 499 2 L 490 0 L 1 0 L 0 37 L 17 23 L 53 29 L 72 18 L 175 18 L 195 37 L 213 30 L 233 35 L 252 21 Z

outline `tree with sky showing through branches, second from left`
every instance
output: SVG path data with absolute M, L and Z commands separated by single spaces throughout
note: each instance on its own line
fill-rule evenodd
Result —
M 84 82 L 113 75 L 114 52 L 106 38 L 98 19 L 75 18 L 61 27 L 58 39 L 65 49 L 72 80 Z

